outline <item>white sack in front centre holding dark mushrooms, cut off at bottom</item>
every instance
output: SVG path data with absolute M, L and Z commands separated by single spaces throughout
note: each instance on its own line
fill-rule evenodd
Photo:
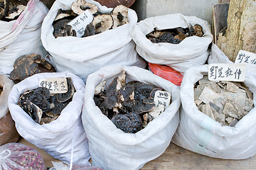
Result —
M 95 106 L 95 86 L 100 81 L 111 80 L 124 70 L 127 80 L 154 84 L 171 92 L 172 103 L 146 128 L 135 134 L 117 129 L 100 108 Z M 146 162 L 164 153 L 178 126 L 180 106 L 178 86 L 139 67 L 104 67 L 90 74 L 85 86 L 85 104 L 82 124 L 89 140 L 92 166 L 102 169 L 140 169 Z

